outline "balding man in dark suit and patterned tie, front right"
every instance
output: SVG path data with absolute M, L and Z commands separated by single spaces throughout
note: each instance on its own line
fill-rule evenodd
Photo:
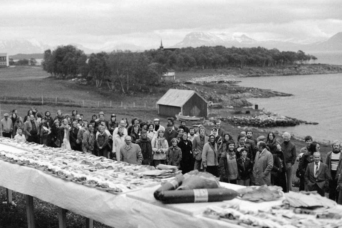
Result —
M 324 189 L 329 185 L 330 172 L 328 165 L 320 160 L 320 152 L 314 152 L 314 162 L 307 165 L 304 180 L 308 191 L 317 191 L 324 197 Z

